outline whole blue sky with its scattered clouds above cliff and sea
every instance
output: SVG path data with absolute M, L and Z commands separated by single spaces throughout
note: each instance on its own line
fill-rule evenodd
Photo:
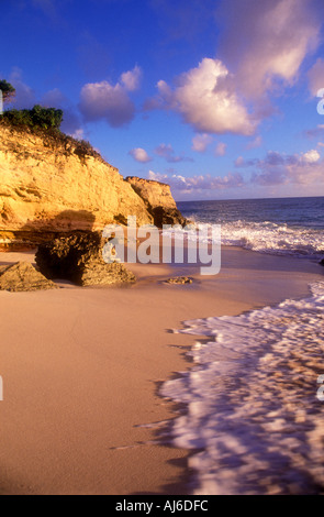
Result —
M 324 196 L 323 0 L 11 0 L 13 107 L 177 200 Z M 322 57 L 323 56 L 323 57 Z

